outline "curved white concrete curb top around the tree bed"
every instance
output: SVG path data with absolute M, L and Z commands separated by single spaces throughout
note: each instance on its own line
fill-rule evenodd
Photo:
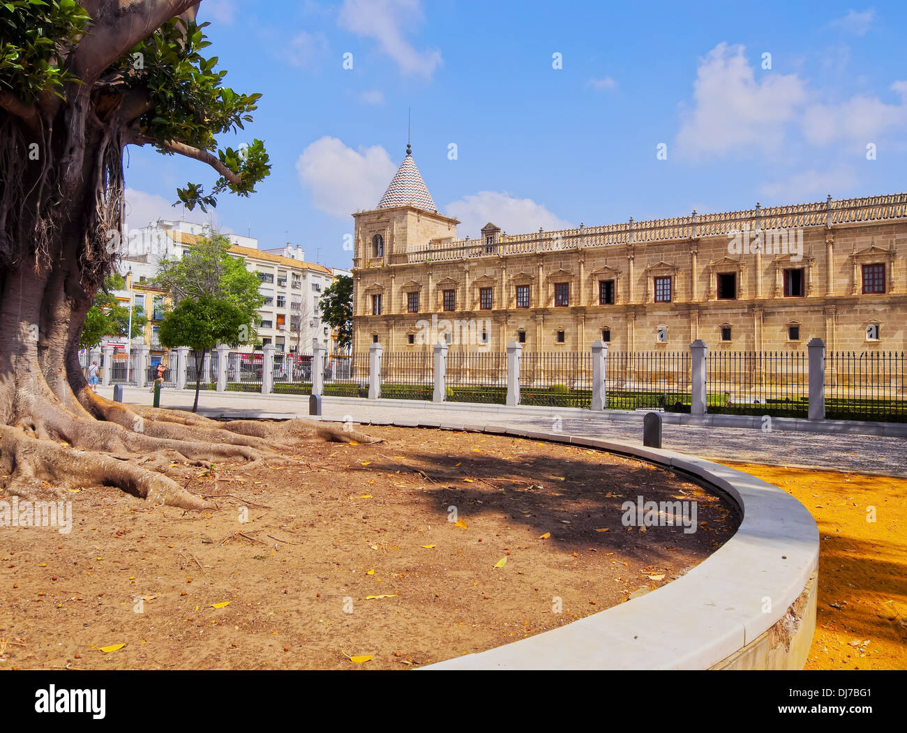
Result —
M 709 669 L 775 626 L 818 567 L 819 530 L 805 506 L 777 486 L 727 466 L 619 441 L 504 426 L 373 425 L 513 435 L 625 454 L 697 475 L 729 494 L 743 513 L 736 534 L 717 552 L 658 591 L 423 669 Z

